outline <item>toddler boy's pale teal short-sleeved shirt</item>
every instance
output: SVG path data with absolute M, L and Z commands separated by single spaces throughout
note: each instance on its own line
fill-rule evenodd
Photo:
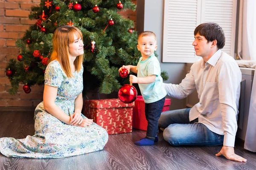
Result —
M 161 77 L 161 68 L 157 57 L 152 54 L 148 59 L 140 61 L 137 64 L 137 77 L 147 77 L 151 75 L 156 75 L 154 82 L 150 84 L 139 84 L 140 92 L 143 96 L 145 103 L 157 102 L 166 96 L 166 91 L 163 88 L 163 79 Z

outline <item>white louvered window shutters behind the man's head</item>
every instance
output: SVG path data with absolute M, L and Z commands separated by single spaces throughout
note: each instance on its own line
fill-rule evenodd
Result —
M 218 23 L 226 36 L 223 51 L 234 56 L 236 0 L 165 0 L 163 62 L 195 62 L 195 27 Z

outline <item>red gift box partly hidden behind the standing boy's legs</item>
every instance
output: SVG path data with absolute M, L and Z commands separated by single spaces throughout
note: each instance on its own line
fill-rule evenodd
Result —
M 166 99 L 163 105 L 163 111 L 169 111 L 171 99 Z M 135 129 L 147 130 L 148 121 L 145 116 L 145 102 L 142 96 L 137 96 L 135 107 L 133 108 L 132 126 Z

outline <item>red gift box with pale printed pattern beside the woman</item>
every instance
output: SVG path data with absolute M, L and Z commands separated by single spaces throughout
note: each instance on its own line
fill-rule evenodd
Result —
M 84 116 L 105 128 L 108 134 L 132 132 L 134 102 L 125 104 L 119 99 L 84 100 Z

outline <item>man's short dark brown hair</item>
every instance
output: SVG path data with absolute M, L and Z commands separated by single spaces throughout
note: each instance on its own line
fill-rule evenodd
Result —
M 223 29 L 217 23 L 202 23 L 195 28 L 194 35 L 204 36 L 207 43 L 217 40 L 217 47 L 221 49 L 225 45 L 225 35 Z

